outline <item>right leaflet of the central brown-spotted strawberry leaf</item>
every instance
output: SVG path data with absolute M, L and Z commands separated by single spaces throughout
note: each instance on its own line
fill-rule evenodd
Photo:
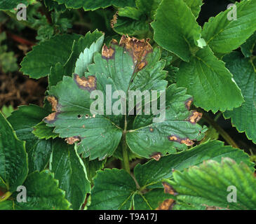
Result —
M 126 134 L 126 141 L 131 151 L 145 158 L 152 158 L 160 153 L 176 153 L 177 149 L 184 150 L 193 145 L 192 140 L 203 138 L 202 127 L 191 123 L 189 118 L 201 114 L 196 111 L 189 111 L 186 102 L 191 96 L 186 94 L 186 89 L 178 88 L 175 84 L 170 85 L 166 90 L 166 118 L 161 123 L 140 123 L 141 126 L 134 127 Z M 143 118 L 137 116 L 137 120 Z M 186 146 L 187 144 L 187 146 Z

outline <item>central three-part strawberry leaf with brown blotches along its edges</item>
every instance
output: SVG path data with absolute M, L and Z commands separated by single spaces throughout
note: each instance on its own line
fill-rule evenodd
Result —
M 166 90 L 166 72 L 162 71 L 164 61 L 159 61 L 160 56 L 159 48 L 152 50 L 147 41 L 125 36 L 119 44 L 113 41 L 109 48 L 104 46 L 102 55 L 95 54 L 95 64 L 88 66 L 86 77 L 76 74 L 72 78 L 64 76 L 62 82 L 50 88 L 48 101 L 52 103 L 54 112 L 44 121 L 48 126 L 55 127 L 54 132 L 60 134 L 61 138 L 67 138 L 69 144 L 76 142 L 78 152 L 83 153 L 83 157 L 103 160 L 112 155 L 123 132 L 124 115 L 120 113 L 127 112 L 130 115 L 132 111 L 112 111 L 114 104 L 121 102 L 112 99 L 110 113 L 107 111 L 109 106 L 106 109 L 109 102 L 103 102 L 103 113 L 92 112 L 90 106 L 94 100 L 90 99 L 90 92 L 100 90 L 109 101 L 112 96 L 109 97 L 106 90 L 111 87 L 112 93 L 115 90 L 123 91 L 127 100 L 122 101 L 130 104 L 130 90 Z M 186 144 L 194 144 L 192 140 L 203 137 L 201 126 L 196 125 L 201 113 L 189 111 L 192 99 L 185 92 L 184 88 L 175 85 L 168 88 L 167 101 L 163 102 L 167 105 L 162 106 L 166 109 L 163 123 L 152 124 L 155 118 L 150 116 L 147 125 L 140 128 L 134 126 L 135 130 L 128 130 L 126 140 L 131 151 L 151 158 L 154 153 L 175 153 L 175 148 L 184 149 Z

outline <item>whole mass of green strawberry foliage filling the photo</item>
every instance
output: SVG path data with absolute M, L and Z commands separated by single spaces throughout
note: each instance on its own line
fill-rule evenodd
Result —
M 256 1 L 225 3 L 200 24 L 202 0 L 0 0 L 48 81 L 0 112 L 0 209 L 256 209 L 254 155 L 218 123 L 256 144 Z

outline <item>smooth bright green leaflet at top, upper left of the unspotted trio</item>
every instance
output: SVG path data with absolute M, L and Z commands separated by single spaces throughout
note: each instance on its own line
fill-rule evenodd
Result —
M 194 51 L 201 38 L 201 27 L 184 1 L 163 0 L 151 26 L 156 43 L 189 62 L 191 51 Z

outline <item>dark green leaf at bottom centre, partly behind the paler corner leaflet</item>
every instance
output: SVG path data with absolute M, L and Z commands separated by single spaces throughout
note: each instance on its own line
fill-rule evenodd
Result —
M 184 168 L 200 165 L 204 160 L 220 162 L 226 156 L 236 162 L 245 162 L 250 166 L 250 169 L 247 167 L 248 172 L 252 174 L 248 155 L 230 146 L 223 146 L 220 141 L 210 141 L 189 151 L 168 155 L 159 162 L 151 160 L 144 165 L 137 165 L 134 174 L 139 186 L 124 170 L 105 169 L 97 172 L 89 209 L 156 209 L 163 200 L 171 197 L 156 183 L 171 179 L 176 174 L 172 170 L 183 172 Z

